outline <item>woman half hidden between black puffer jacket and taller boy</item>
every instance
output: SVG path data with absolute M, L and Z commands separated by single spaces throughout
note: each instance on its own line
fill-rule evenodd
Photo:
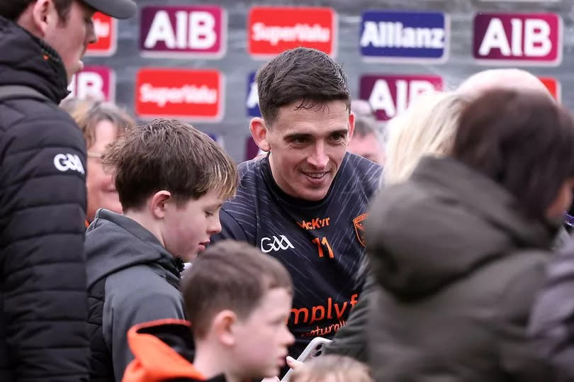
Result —
M 102 167 L 101 155 L 118 135 L 133 128 L 135 121 L 113 103 L 72 98 L 62 101 L 60 107 L 74 118 L 86 140 L 86 226 L 94 220 L 99 208 L 121 213 L 118 191 L 113 185 L 111 174 Z

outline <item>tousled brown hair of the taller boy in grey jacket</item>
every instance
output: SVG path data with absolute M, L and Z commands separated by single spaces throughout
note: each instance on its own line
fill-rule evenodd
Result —
M 208 191 L 230 198 L 237 169 L 229 155 L 205 133 L 179 120 L 156 119 L 125 132 L 102 156 L 123 210 L 139 209 L 157 191 L 169 191 L 177 206 Z

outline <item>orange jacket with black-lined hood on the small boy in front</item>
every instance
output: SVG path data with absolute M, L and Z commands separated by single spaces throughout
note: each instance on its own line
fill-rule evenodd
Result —
M 190 326 L 185 320 L 167 319 L 132 327 L 128 332 L 128 343 L 135 359 L 125 369 L 122 381 L 160 382 L 173 378 L 181 381 L 206 381 L 191 362 L 162 341 L 161 335 L 158 336 L 167 333 L 193 348 Z M 188 335 L 182 336 L 184 333 Z

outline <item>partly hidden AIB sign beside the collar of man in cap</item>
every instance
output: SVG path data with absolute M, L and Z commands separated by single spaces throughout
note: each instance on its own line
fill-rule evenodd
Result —
M 115 99 L 116 75 L 108 67 L 84 67 L 72 77 L 69 96 L 79 99 L 111 101 Z

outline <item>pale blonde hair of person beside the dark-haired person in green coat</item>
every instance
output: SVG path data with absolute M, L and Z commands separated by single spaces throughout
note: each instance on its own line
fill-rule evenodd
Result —
M 425 155 L 450 155 L 466 98 L 454 91 L 422 94 L 388 123 L 383 184 L 406 180 Z

